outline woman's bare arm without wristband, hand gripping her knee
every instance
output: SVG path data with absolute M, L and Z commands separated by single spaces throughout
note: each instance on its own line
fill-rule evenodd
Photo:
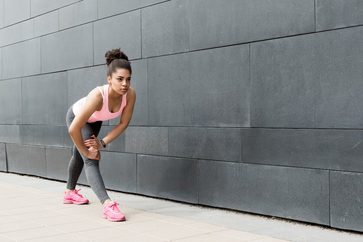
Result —
M 86 145 L 83 143 L 83 137 L 81 133 L 81 129 L 85 126 L 87 120 L 90 116 L 100 108 L 102 108 L 102 95 L 99 90 L 92 90 L 86 97 L 86 102 L 79 109 L 76 117 L 72 121 L 72 124 L 69 127 L 69 134 L 77 146 L 78 150 L 83 153 L 87 158 L 100 160 L 100 154 L 97 148 L 90 147 L 87 149 Z

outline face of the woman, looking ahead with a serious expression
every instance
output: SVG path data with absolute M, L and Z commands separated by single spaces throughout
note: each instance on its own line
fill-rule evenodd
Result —
M 130 88 L 131 74 L 127 69 L 116 69 L 116 72 L 112 73 L 112 77 L 107 77 L 107 82 L 113 88 L 113 90 L 124 95 Z

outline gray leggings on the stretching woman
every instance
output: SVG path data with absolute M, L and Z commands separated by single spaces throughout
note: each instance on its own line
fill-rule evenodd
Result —
M 75 116 L 73 113 L 72 105 L 69 108 L 66 116 L 68 128 L 72 123 L 74 117 Z M 91 135 L 97 137 L 99 130 L 101 129 L 101 125 L 102 121 L 86 123 L 81 130 L 83 140 L 92 139 Z M 91 186 L 94 193 L 97 195 L 99 201 L 101 201 L 101 203 L 105 202 L 107 199 L 109 199 L 109 196 L 107 195 L 105 184 L 103 183 L 101 173 L 99 172 L 99 161 L 88 159 L 86 156 L 83 155 L 82 152 L 78 151 L 76 145 L 73 146 L 73 155 L 68 165 L 67 189 L 76 189 L 76 184 L 79 175 L 81 175 L 83 164 L 85 165 L 85 173 L 89 185 Z

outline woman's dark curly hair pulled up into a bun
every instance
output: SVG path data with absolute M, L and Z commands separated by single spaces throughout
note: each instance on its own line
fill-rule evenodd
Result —
M 107 76 L 111 76 L 116 72 L 116 69 L 127 69 L 131 74 L 131 65 L 129 58 L 123 53 L 120 48 L 109 50 L 105 54 L 107 64 Z

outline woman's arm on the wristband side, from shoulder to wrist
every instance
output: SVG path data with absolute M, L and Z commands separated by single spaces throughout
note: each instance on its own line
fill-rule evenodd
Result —
M 103 138 L 103 142 L 105 144 L 111 143 L 114 139 L 117 138 L 123 131 L 126 130 L 127 126 L 130 123 L 132 112 L 134 112 L 134 104 L 136 99 L 135 90 L 130 87 L 129 91 L 127 91 L 127 101 L 126 106 L 122 110 L 120 123 L 108 134 L 105 138 Z M 100 142 L 101 144 L 101 142 Z M 101 147 L 102 144 L 101 144 Z

